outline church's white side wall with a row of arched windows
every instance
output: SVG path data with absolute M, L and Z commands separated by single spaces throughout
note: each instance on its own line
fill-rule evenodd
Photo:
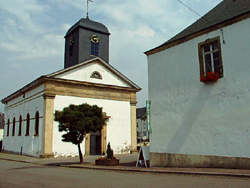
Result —
M 37 87 L 25 94 L 25 98 L 20 96 L 11 100 L 5 105 L 5 129 L 3 148 L 7 151 L 23 154 L 39 156 L 42 152 L 42 137 L 43 137 L 43 116 L 44 116 L 44 86 Z M 39 136 L 34 136 L 35 130 L 35 113 L 39 112 Z M 30 134 L 26 133 L 26 117 L 30 114 Z M 19 117 L 22 116 L 22 136 L 18 136 L 19 131 Z M 12 136 L 13 118 L 16 119 L 15 136 Z M 9 136 L 7 136 L 7 123 L 10 120 Z

